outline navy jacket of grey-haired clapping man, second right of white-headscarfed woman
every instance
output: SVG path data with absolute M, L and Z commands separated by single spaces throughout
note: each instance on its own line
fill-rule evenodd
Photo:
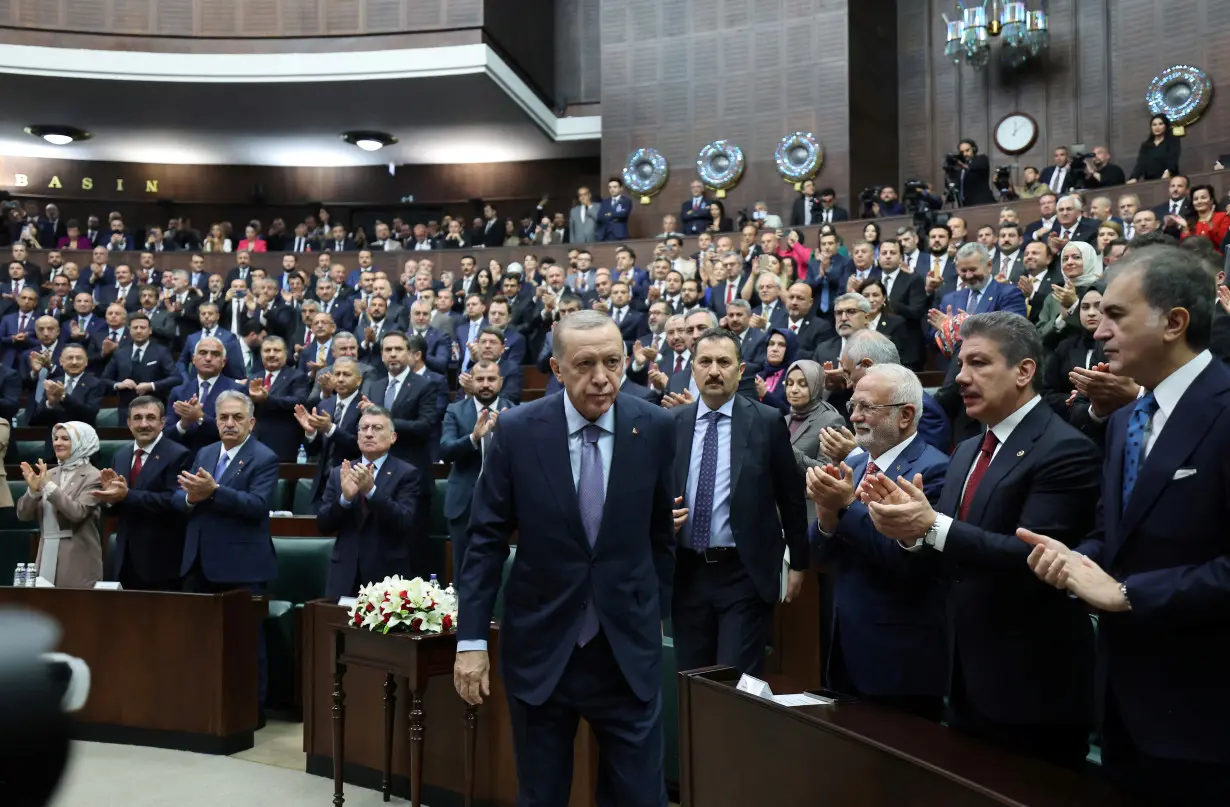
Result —
M 197 451 L 191 469 L 213 474 L 221 443 Z M 226 466 L 214 495 L 188 507 L 180 490 L 172 507 L 186 513 L 180 573 L 187 574 L 200 559 L 200 571 L 212 583 L 264 583 L 278 576 L 278 560 L 269 538 L 269 511 L 274 509 L 278 456 L 250 437 Z

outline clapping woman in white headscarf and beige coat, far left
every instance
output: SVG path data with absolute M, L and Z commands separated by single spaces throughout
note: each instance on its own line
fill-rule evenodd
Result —
M 98 469 L 90 456 L 98 450 L 98 434 L 80 421 L 52 429 L 55 467 L 21 464 L 26 493 L 17 499 L 17 518 L 38 522 L 38 576 L 58 588 L 92 588 L 102 579 L 98 540 Z

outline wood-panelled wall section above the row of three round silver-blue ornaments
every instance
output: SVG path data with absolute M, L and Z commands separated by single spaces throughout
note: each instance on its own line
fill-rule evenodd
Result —
M 726 199 L 732 218 L 756 199 L 788 218 L 795 192 L 772 154 L 800 129 L 824 145 L 819 181 L 849 193 L 846 0 L 603 0 L 600 11 L 603 173 L 620 173 L 641 146 L 670 164 L 663 192 L 637 205 L 633 233 L 678 213 L 697 151 L 720 138 L 747 157 Z

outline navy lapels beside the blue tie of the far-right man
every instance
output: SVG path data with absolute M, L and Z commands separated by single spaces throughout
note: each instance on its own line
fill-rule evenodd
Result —
M 1214 358 L 1213 362 L 1187 388 L 1183 397 L 1178 399 L 1178 406 L 1166 418 L 1166 426 L 1140 466 L 1137 485 L 1132 490 L 1132 498 L 1127 502 L 1127 509 L 1123 513 L 1121 536 L 1129 535 L 1140 523 L 1153 503 L 1161 496 L 1166 483 L 1173 479 L 1175 471 L 1178 470 L 1183 460 L 1192 455 L 1192 451 L 1204 439 L 1205 433 L 1213 427 L 1213 421 L 1221 415 L 1223 407 L 1214 396 L 1230 385 L 1226 384 L 1225 372 L 1220 370 L 1221 365 L 1218 359 Z M 1127 429 L 1127 418 L 1123 418 L 1123 423 L 1124 429 Z M 1119 456 L 1113 463 L 1121 469 L 1119 490 L 1122 491 L 1122 442 L 1119 445 Z

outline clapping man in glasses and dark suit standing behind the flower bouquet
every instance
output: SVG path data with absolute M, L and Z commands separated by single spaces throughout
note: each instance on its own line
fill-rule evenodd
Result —
M 342 460 L 330 471 L 316 511 L 322 535 L 337 535 L 325 597 L 354 597 L 360 586 L 392 574 L 412 577 L 412 544 L 424 533 L 407 530 L 417 520 L 421 488 L 430 483 L 408 463 L 389 453 L 397 440 L 392 417 L 369 406 L 359 418 L 362 461 Z

